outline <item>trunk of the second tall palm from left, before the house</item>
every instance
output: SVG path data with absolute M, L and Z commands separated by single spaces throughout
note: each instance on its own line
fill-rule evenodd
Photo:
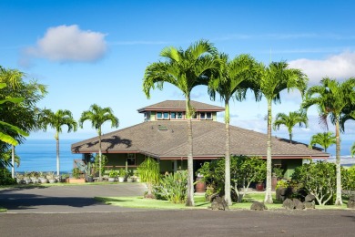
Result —
M 230 197 L 230 135 L 229 135 L 229 106 L 226 103 L 225 111 L 225 123 L 226 123 L 226 157 L 225 157 L 225 186 L 224 186 L 224 199 L 228 206 L 232 204 Z

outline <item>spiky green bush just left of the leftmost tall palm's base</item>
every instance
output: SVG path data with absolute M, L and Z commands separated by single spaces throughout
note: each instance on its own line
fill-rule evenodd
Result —
M 187 200 L 188 172 L 186 170 L 169 173 L 154 185 L 153 194 L 157 199 L 172 203 L 184 203 Z

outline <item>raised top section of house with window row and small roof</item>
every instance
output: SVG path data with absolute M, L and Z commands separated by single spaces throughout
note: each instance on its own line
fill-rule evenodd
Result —
M 225 109 L 218 106 L 208 105 L 191 100 L 191 107 L 195 110 L 194 120 L 217 120 L 217 113 Z M 165 100 L 163 102 L 139 108 L 139 113 L 144 114 L 145 121 L 155 120 L 185 120 L 186 101 L 185 100 Z

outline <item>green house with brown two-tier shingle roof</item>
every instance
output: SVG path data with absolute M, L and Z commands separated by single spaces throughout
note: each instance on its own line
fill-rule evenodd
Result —
M 224 157 L 225 124 L 217 121 L 224 108 L 191 101 L 194 173 L 205 161 Z M 106 170 L 136 170 L 147 157 L 159 160 L 161 172 L 187 169 L 188 123 L 184 100 L 166 100 L 137 111 L 144 122 L 102 136 L 102 152 L 107 157 Z M 272 163 L 286 170 L 285 177 L 302 164 L 303 159 L 328 159 L 321 149 L 288 139 L 272 138 Z M 72 144 L 73 153 L 98 152 L 98 137 Z M 231 154 L 259 156 L 266 159 L 267 135 L 230 126 Z

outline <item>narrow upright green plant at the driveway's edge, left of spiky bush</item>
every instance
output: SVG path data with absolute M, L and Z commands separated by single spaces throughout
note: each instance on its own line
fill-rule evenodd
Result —
M 137 170 L 139 171 L 140 179 L 147 183 L 146 198 L 154 198 L 152 194 L 153 185 L 158 183 L 160 179 L 159 163 L 153 158 L 147 158 L 139 165 Z

